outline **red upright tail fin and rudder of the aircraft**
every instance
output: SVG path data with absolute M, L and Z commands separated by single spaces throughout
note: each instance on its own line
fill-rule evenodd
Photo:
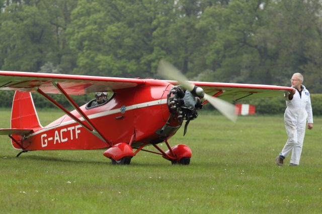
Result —
M 42 129 L 30 92 L 16 91 L 15 93 L 11 113 L 11 130 L 15 129 L 32 130 L 33 132 Z M 13 133 L 13 137 L 21 141 L 21 135 Z M 14 141 L 12 144 L 16 149 L 21 149 Z

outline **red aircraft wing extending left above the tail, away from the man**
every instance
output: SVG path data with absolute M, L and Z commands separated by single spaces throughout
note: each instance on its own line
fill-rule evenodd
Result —
M 96 91 L 112 91 L 143 84 L 143 79 L 0 71 L 0 90 L 23 90 L 35 92 L 40 88 L 45 93 L 60 92 L 53 85 L 58 82 L 70 95 Z

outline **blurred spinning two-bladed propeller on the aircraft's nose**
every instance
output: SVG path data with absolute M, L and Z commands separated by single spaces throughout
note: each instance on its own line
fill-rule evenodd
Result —
M 196 94 L 210 102 L 214 108 L 216 108 L 221 114 L 232 122 L 236 122 L 237 115 L 235 113 L 235 106 L 227 101 L 213 97 L 207 93 L 204 93 L 201 87 L 197 87 L 190 83 L 188 79 L 171 63 L 161 60 L 157 68 L 157 72 L 160 76 L 176 80 L 183 88 L 189 90 L 192 94 Z

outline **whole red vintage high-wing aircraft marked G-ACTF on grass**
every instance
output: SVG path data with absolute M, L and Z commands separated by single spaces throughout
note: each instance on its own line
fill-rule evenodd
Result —
M 190 148 L 183 144 L 171 147 L 168 140 L 184 121 L 186 133 L 190 120 L 197 118 L 197 111 L 207 101 L 235 121 L 234 105 L 227 101 L 292 90 L 274 85 L 187 81 L 165 61 L 160 62 L 158 72 L 173 80 L 0 71 L 0 89 L 16 91 L 11 128 L 0 129 L 0 134 L 9 135 L 13 147 L 21 150 L 17 157 L 36 150 L 107 149 L 104 156 L 117 165 L 130 164 L 139 151 L 188 165 Z M 113 96 L 102 104 L 92 106 L 91 100 L 80 107 L 69 96 L 98 91 L 113 92 Z M 66 115 L 41 126 L 31 92 L 43 95 Z M 68 111 L 48 94 L 62 94 L 75 110 Z M 158 147 L 162 142 L 168 151 Z M 158 152 L 143 149 L 148 145 Z

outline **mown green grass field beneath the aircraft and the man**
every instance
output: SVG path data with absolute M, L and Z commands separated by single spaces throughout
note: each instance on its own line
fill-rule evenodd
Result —
M 61 115 L 40 111 L 42 125 Z M 0 138 L 2 213 L 321 213 L 322 118 L 306 131 L 299 167 L 275 165 L 287 139 L 283 116 L 204 113 L 170 140 L 193 152 L 189 166 L 139 152 L 113 166 L 103 150 L 34 151 L 16 158 Z M 0 111 L 10 127 L 10 110 Z M 165 145 L 162 146 L 165 148 Z M 151 148 L 152 149 L 152 148 Z

